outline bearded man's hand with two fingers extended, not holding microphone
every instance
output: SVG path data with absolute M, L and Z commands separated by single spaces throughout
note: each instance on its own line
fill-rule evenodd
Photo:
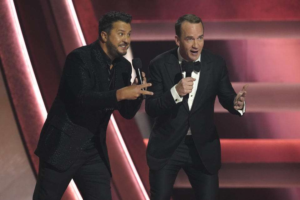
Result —
M 117 90 L 117 101 L 124 99 L 134 100 L 137 99 L 141 94 L 153 95 L 153 92 L 147 90 L 142 90 L 142 88 L 150 87 L 151 83 L 146 83 L 142 85 L 130 85 Z

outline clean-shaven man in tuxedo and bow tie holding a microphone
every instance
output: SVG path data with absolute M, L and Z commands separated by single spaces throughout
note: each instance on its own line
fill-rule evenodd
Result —
M 148 71 L 154 95 L 146 98 L 145 109 L 155 117 L 146 152 L 150 199 L 169 200 L 183 168 L 196 199 L 216 200 L 221 147 L 214 124 L 215 99 L 218 96 L 225 109 L 242 116 L 247 85 L 236 94 L 224 59 L 202 49 L 199 17 L 180 17 L 175 32 L 179 47 L 151 60 Z M 191 77 L 186 77 L 188 66 Z

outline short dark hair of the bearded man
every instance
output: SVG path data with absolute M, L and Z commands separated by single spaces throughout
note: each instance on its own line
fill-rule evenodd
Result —
M 125 12 L 110 11 L 108 13 L 105 13 L 99 19 L 98 35 L 100 36 L 100 33 L 102 31 L 106 32 L 109 35 L 110 31 L 113 28 L 113 23 L 114 22 L 123 21 L 125 23 L 130 24 L 131 19 L 132 19 L 132 16 L 125 13 Z

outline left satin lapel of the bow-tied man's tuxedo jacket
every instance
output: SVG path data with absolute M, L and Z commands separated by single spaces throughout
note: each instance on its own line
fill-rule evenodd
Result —
M 165 68 L 170 76 L 173 83 L 171 87 L 176 85 L 182 79 L 182 73 L 178 61 L 177 48 L 171 53 L 168 62 L 165 63 Z M 188 112 L 190 112 L 189 105 L 185 102 L 181 102 Z

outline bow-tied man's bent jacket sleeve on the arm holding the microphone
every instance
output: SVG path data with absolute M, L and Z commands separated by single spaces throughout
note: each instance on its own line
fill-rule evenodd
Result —
M 157 117 L 170 112 L 170 110 L 176 106 L 176 103 L 171 94 L 171 87 L 164 88 L 162 71 L 155 65 L 153 60 L 149 64 L 148 69 L 148 83 L 152 83 L 152 86 L 148 88 L 153 92 L 152 96 L 147 96 L 145 101 L 145 110 L 151 117 Z

